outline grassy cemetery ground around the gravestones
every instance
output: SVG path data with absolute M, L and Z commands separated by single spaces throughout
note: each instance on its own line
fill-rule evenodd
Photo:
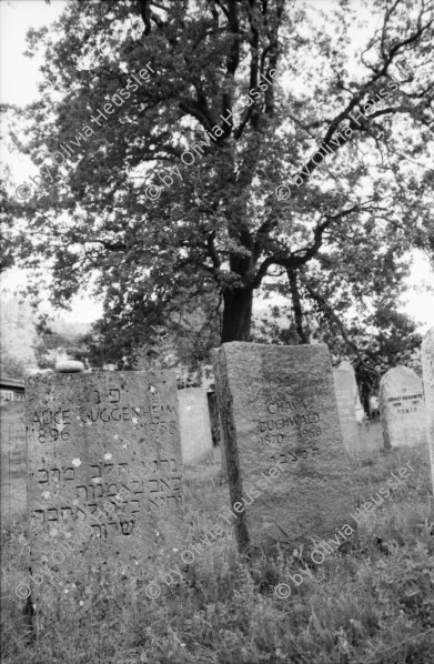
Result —
M 3 513 L 3 664 L 432 662 L 434 536 L 427 449 L 373 451 L 381 437 L 379 423 L 362 435 L 371 451 L 355 465 L 359 504 L 405 463 L 414 472 L 323 564 L 282 546 L 249 565 L 234 540 L 223 536 L 203 544 L 191 565 L 179 563 L 182 581 L 175 574 L 169 585 L 159 579 L 155 600 L 147 597 L 143 587 L 130 592 L 125 579 L 103 587 L 92 574 L 88 587 L 70 584 L 62 606 L 47 610 L 38 635 L 31 631 L 28 603 L 14 594 L 27 574 L 26 556 L 20 557 L 26 516 L 13 512 L 6 520 Z M 213 465 L 185 470 L 185 550 L 205 542 L 205 533 L 221 523 L 229 490 L 219 470 L 216 457 Z M 14 503 L 19 499 L 14 496 Z M 350 514 L 347 523 L 354 527 Z M 311 574 L 296 587 L 290 575 L 305 565 Z M 170 570 L 162 567 L 161 573 L 169 579 Z M 43 583 L 47 590 L 55 579 Z M 291 595 L 283 600 L 274 588 L 284 583 Z

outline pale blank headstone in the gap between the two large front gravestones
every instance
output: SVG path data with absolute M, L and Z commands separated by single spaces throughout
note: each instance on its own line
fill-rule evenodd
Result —
M 195 464 L 212 461 L 212 437 L 206 391 L 202 388 L 178 390 L 182 461 Z

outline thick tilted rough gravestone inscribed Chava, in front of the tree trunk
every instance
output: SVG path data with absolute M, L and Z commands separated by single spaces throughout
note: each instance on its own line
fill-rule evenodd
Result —
M 232 342 L 213 362 L 240 550 L 333 533 L 354 503 L 327 348 Z

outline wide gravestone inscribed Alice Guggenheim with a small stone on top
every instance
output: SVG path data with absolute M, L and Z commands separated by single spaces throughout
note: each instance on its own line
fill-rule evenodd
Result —
M 48 579 L 50 592 L 77 595 L 85 574 L 101 570 L 132 584 L 154 574 L 182 542 L 174 374 L 36 375 L 26 393 L 31 567 L 37 585 L 44 581 L 38 596 L 49 601 Z

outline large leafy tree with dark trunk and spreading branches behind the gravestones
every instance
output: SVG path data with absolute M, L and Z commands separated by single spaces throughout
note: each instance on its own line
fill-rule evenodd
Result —
M 71 1 L 29 36 L 44 80 L 13 138 L 41 170 L 7 202 L 13 255 L 57 303 L 92 282 L 112 356 L 194 312 L 250 340 L 264 288 L 300 342 L 310 311 L 354 351 L 434 248 L 433 32 L 426 0 Z

